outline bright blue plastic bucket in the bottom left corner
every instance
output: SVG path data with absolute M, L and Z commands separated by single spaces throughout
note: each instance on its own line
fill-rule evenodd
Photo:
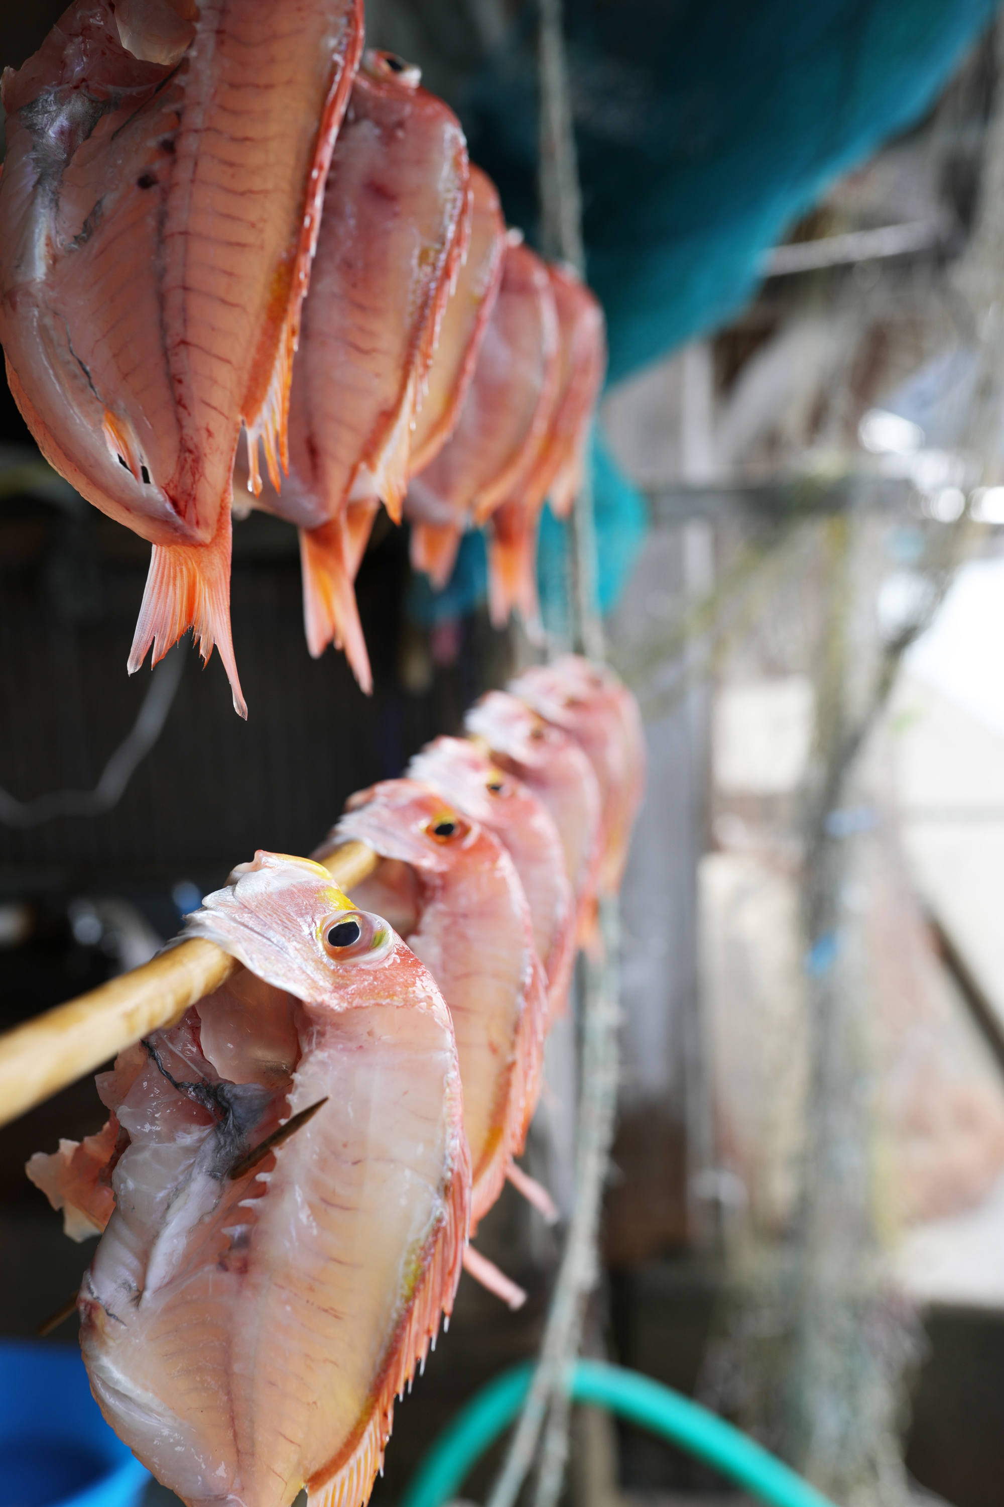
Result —
M 0 1340 L 0 1507 L 135 1507 L 149 1478 L 101 1417 L 80 1350 Z

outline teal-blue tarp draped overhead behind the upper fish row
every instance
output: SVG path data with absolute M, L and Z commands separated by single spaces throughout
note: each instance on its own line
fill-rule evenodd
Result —
M 566 0 L 587 273 L 607 312 L 610 380 L 735 315 L 763 252 L 837 175 L 927 110 L 995 9 L 992 0 Z M 536 77 L 528 0 L 452 101 L 471 158 L 530 241 Z M 617 497 L 628 491 L 613 464 L 601 467 L 605 579 L 620 562 L 607 604 L 634 559 L 620 543 Z M 545 524 L 545 571 L 551 536 Z

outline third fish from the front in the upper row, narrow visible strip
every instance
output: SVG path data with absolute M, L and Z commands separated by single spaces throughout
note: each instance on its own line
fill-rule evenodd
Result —
M 498 190 L 474 163 L 470 175 L 471 235 L 415 416 L 408 458 L 411 475 L 424 470 L 456 428 L 501 282 L 506 222 Z

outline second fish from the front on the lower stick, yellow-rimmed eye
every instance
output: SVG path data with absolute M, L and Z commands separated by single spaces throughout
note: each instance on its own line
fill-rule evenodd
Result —
M 530 907 L 498 838 L 412 779 L 354 796 L 321 856 L 349 841 L 384 859 L 352 894 L 387 915 L 453 1017 L 473 1233 L 522 1150 L 540 1090 L 548 1001 Z

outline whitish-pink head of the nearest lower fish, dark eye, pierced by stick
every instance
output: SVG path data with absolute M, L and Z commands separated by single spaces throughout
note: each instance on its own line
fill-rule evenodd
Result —
M 360 910 L 310 859 L 257 851 L 185 919 L 259 978 L 313 1004 L 349 1004 L 358 975 L 411 952 L 382 916 Z

